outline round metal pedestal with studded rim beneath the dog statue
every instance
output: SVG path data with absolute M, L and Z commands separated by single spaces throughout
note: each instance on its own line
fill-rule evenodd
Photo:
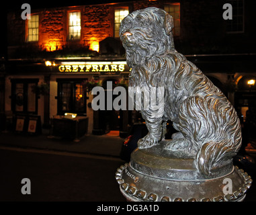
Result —
M 194 159 L 177 158 L 159 145 L 134 150 L 130 163 L 118 168 L 116 180 L 126 200 L 134 202 L 243 201 L 252 183 L 232 162 L 206 177 Z

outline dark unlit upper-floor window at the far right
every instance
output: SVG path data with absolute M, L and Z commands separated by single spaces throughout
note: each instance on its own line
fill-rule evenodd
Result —
M 228 33 L 243 33 L 244 32 L 244 1 L 243 0 L 229 0 L 232 5 L 232 19 L 227 19 Z

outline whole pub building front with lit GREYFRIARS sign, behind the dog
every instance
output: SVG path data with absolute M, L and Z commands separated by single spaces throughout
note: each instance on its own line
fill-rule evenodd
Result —
M 155 6 L 173 16 L 177 51 L 225 93 L 245 121 L 248 110 L 255 112 L 256 107 L 251 81 L 256 79 L 251 46 L 256 36 L 251 18 L 254 11 L 248 1 L 228 2 L 233 7 L 231 20 L 223 18 L 222 1 L 109 1 L 32 7 L 30 19 L 22 19 L 22 10 L 9 11 L 2 109 L 7 116 L 40 116 L 42 126 L 49 126 L 52 118 L 74 113 L 87 116 L 89 134 L 118 130 L 125 136 L 138 120 L 137 114 L 130 110 L 94 111 L 89 86 L 100 85 L 107 95 L 108 81 L 112 89 L 128 85 L 130 68 L 119 38 L 120 22 L 132 11 Z

